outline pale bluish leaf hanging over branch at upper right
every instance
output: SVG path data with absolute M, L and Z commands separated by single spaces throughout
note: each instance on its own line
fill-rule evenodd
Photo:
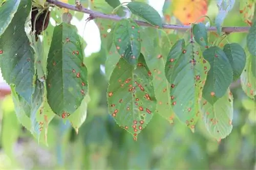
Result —
M 234 0 L 218 0 L 217 6 L 219 8 L 219 13 L 215 18 L 215 25 L 217 27 L 217 32 L 220 35 L 221 34 L 221 26 L 222 23 L 227 16 L 228 12 L 231 11 L 231 9 L 234 6 Z

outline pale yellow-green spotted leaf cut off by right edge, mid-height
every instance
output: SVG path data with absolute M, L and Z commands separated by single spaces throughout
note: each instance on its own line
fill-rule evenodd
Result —
M 253 71 L 255 71 L 256 66 L 252 65 L 252 62 L 255 63 L 256 59 L 248 52 L 248 50 L 245 52 L 247 58 L 245 68 L 241 74 L 241 85 L 245 94 L 249 96 L 249 98 L 254 99 L 254 96 L 256 95 L 256 77 L 253 75 Z

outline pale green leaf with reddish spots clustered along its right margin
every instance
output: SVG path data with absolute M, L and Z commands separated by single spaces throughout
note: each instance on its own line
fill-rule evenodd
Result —
M 177 48 L 181 53 L 177 51 L 176 54 L 179 53 L 180 57 L 174 65 L 172 75 L 167 76 L 174 112 L 181 122 L 192 129 L 199 117 L 199 99 L 207 74 L 199 49 L 195 43 L 189 43 L 182 49 Z

